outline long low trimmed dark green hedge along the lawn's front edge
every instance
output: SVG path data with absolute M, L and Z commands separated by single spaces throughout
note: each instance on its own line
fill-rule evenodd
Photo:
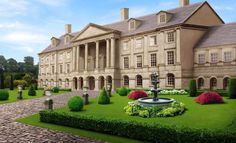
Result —
M 156 143 L 235 143 L 236 132 L 145 124 L 137 121 L 40 111 L 40 121 Z

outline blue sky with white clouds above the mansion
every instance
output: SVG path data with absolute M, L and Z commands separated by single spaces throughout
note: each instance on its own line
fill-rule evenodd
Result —
M 190 0 L 190 3 L 202 0 Z M 235 0 L 208 0 L 226 22 L 236 22 Z M 50 44 L 51 37 L 72 32 L 88 23 L 108 24 L 120 20 L 120 8 L 130 9 L 130 17 L 179 7 L 179 0 L 0 0 L 0 55 L 23 61 Z

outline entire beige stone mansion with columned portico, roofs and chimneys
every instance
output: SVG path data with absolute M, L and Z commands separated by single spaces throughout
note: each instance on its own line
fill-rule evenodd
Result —
M 198 88 L 225 89 L 236 77 L 236 23 L 225 24 L 207 3 L 129 18 L 52 37 L 39 53 L 39 85 L 99 90 L 107 84 L 148 88 L 157 72 L 161 88 L 183 89 L 190 79 Z

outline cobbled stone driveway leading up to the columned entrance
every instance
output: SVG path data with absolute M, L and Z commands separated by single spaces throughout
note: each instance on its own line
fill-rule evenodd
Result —
M 94 91 L 90 91 L 89 94 L 90 97 L 98 95 L 97 92 Z M 54 107 L 57 108 L 64 106 L 67 103 L 68 98 L 73 95 L 82 95 L 82 92 L 71 92 L 63 95 L 52 96 Z M 43 102 L 46 98 L 47 97 L 42 97 L 0 105 L 0 143 L 101 142 L 15 122 L 17 118 L 35 114 L 40 110 L 43 110 Z

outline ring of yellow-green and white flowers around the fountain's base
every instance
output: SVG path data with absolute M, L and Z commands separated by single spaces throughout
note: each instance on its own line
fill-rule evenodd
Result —
M 124 107 L 126 114 L 130 116 L 140 116 L 143 118 L 151 117 L 173 117 L 181 115 L 185 111 L 185 105 L 181 102 L 173 102 L 168 107 L 144 107 L 138 101 L 129 102 Z

